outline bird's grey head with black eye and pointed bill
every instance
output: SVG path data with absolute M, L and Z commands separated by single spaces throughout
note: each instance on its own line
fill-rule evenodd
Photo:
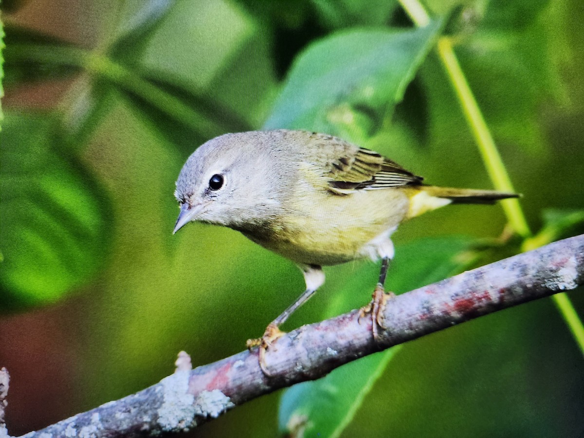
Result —
M 176 181 L 174 232 L 190 221 L 244 230 L 277 217 L 294 173 L 283 147 L 289 132 L 225 134 L 194 151 Z

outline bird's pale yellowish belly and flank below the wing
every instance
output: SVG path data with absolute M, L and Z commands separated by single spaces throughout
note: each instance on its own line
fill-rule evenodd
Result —
M 409 207 L 399 189 L 322 193 L 310 199 L 294 200 L 269 233 L 245 234 L 294 262 L 336 265 L 370 256 L 368 242 L 397 227 Z

